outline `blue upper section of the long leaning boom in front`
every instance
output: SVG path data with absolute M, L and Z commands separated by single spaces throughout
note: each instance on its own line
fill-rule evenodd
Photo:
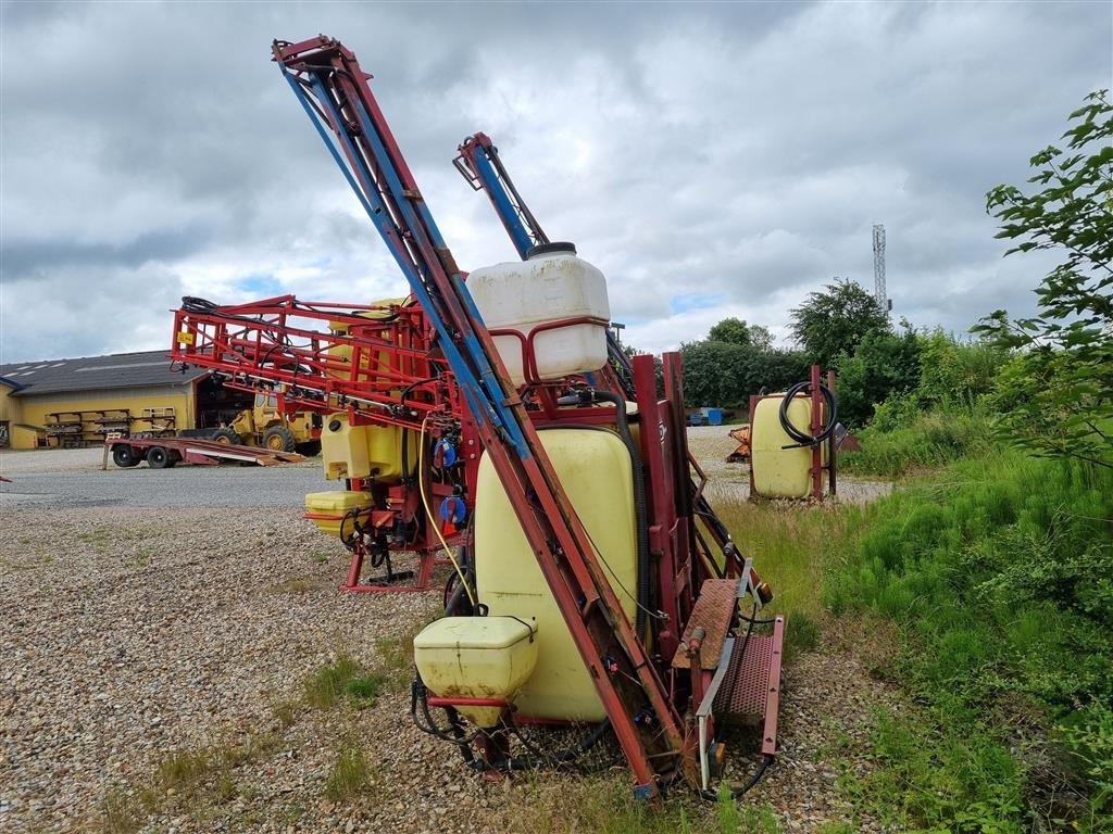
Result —
M 453 332 L 441 315 L 440 305 L 434 302 L 430 292 L 434 286 L 430 275 L 431 265 L 421 257 L 420 241 L 416 238 L 424 235 L 434 249 L 445 250 L 444 238 L 424 201 L 415 203 L 404 188 L 402 177 L 363 102 L 358 99 L 348 101 L 355 117 L 355 125 L 351 125 L 352 115 L 339 112 L 318 73 L 312 72 L 308 76 L 311 99 L 311 92 L 306 91 L 306 85 L 298 80 L 297 75 L 285 67 L 280 69 L 436 330 L 440 347 L 463 391 L 469 411 L 477 423 L 490 421 L 521 458 L 529 458 L 531 453 L 521 427 L 504 405 L 506 394 L 474 331 Z M 368 150 L 376 168 L 374 172 L 357 147 L 356 136 L 370 145 Z M 384 202 L 384 186 L 400 215 L 396 219 Z M 407 241 L 413 247 L 407 246 Z M 460 275 L 453 274 L 450 279 L 469 316 L 474 321 L 482 321 Z

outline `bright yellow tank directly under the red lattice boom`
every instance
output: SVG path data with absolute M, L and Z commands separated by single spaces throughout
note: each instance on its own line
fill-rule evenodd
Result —
M 417 463 L 417 438 L 397 426 L 353 426 L 345 413 L 325 418 L 321 459 L 325 478 L 375 478 L 391 484 L 402 478 L 402 444 L 408 444 L 410 466 Z

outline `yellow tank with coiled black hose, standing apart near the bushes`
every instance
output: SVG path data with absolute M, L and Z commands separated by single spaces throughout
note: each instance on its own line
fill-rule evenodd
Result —
M 758 400 L 750 426 L 750 469 L 754 488 L 766 498 L 807 498 L 811 494 L 811 448 L 796 446 L 780 425 L 777 395 Z M 811 433 L 811 399 L 795 397 L 788 406 L 788 419 L 805 434 Z

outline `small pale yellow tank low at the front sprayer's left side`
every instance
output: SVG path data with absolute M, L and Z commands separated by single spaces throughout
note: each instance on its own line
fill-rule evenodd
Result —
M 532 623 L 514 617 L 442 617 L 414 637 L 414 663 L 434 695 L 513 703 L 538 659 L 535 635 Z M 480 727 L 495 726 L 502 713 L 498 706 L 456 708 Z

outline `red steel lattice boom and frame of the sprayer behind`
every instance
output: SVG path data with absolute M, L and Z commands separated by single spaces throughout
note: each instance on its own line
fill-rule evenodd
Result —
M 314 325 L 317 327 L 315 328 Z M 321 329 L 327 328 L 327 329 Z M 213 370 L 224 385 L 237 390 L 274 394 L 287 413 L 309 410 L 323 415 L 346 413 L 352 425 L 398 426 L 418 430 L 426 419 L 433 431 L 444 420 L 461 420 L 460 390 L 420 307 L 298 301 L 279 296 L 224 307 L 196 299 L 175 311 L 175 361 Z M 471 495 L 479 465 L 474 429 L 462 420 L 461 449 L 465 496 Z M 425 494 L 436 506 L 453 495 L 452 486 L 432 483 L 427 471 Z M 415 580 L 361 582 L 371 555 L 362 540 L 352 547 L 352 560 L 342 589 L 349 592 L 426 590 L 437 559 L 440 538 L 430 529 L 421 497 L 412 484 L 376 487 L 355 480 L 353 489 L 377 493 L 390 509 L 371 513 L 371 527 L 386 530 L 398 520 L 415 535 L 398 549 L 418 556 Z M 337 520 L 307 513 L 306 518 Z M 450 546 L 463 535 L 445 536 Z

